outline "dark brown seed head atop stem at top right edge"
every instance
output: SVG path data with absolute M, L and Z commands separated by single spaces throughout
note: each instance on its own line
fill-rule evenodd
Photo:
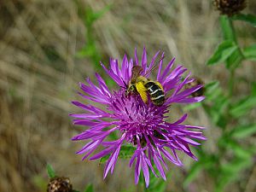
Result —
M 215 7 L 222 15 L 236 15 L 247 6 L 246 0 L 214 0 Z

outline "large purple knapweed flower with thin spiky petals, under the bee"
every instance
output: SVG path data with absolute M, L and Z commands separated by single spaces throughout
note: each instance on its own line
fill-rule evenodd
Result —
M 141 170 L 143 170 L 146 186 L 149 183 L 149 170 L 158 177 L 154 167 L 166 180 L 164 171 L 164 167 L 167 169 L 166 160 L 170 160 L 177 166 L 183 165 L 177 157 L 177 151 L 188 154 L 196 160 L 189 146 L 200 145 L 194 139 L 205 139 L 201 133 L 203 127 L 183 125 L 187 114 L 177 119 L 176 122 L 168 122 L 166 115 L 175 103 L 201 102 L 204 99 L 203 96 L 190 95 L 201 89 L 202 85 L 185 89 L 185 84 L 191 83 L 193 79 L 189 79 L 189 75 L 184 76 L 187 69 L 183 66 L 172 69 L 175 59 L 172 59 L 165 68 L 163 68 L 163 60 L 156 62 L 158 65 L 156 78 L 150 77 L 151 69 L 159 54 L 160 51 L 154 55 L 152 61 L 148 62 L 146 49 L 143 49 L 140 63 L 137 50 L 135 50 L 135 59 L 128 61 L 125 55 L 120 67 L 118 61 L 113 59 L 110 60 L 110 69 L 101 63 L 108 76 L 119 85 L 119 90 L 109 90 L 105 81 L 97 73 L 98 85 L 93 84 L 90 79 L 86 79 L 86 84 L 80 83 L 83 93 L 79 95 L 90 103 L 96 103 L 97 106 L 98 103 L 102 104 L 103 109 L 96 107 L 95 104 L 73 102 L 74 105 L 84 110 L 84 113 L 71 114 L 75 118 L 74 125 L 88 127 L 87 130 L 73 137 L 73 141 L 88 141 L 84 148 L 77 152 L 84 154 L 83 159 L 92 155 L 90 160 L 96 160 L 109 155 L 103 174 L 104 178 L 109 171 L 113 172 L 120 148 L 125 144 L 136 148 L 130 160 L 130 166 L 135 165 L 135 183 L 138 183 Z M 145 103 L 139 94 L 127 95 L 126 87 L 131 80 L 133 66 L 141 66 L 143 68 L 141 75 L 148 79 L 156 79 L 163 86 L 166 95 L 163 105 L 155 106 L 150 99 Z M 109 141 L 108 136 L 113 131 L 118 133 L 119 138 Z M 99 146 L 104 149 L 93 154 Z

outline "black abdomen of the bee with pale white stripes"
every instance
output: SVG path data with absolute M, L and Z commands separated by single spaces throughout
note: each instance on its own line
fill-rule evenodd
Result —
M 159 83 L 154 81 L 148 81 L 144 86 L 148 90 L 151 102 L 156 106 L 161 106 L 165 102 L 164 90 L 160 87 Z

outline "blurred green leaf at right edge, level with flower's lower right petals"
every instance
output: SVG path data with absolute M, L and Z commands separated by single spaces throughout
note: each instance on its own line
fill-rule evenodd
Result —
M 256 133 L 256 124 L 237 126 L 232 132 L 231 136 L 236 138 L 249 137 Z

